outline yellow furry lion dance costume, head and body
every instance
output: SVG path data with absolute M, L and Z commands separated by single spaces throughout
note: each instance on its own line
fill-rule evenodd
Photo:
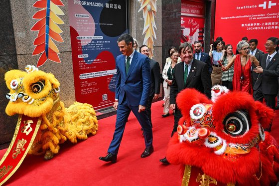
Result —
M 24 71 L 10 70 L 5 74 L 6 94 L 9 102 L 6 114 L 22 114 L 41 117 L 41 125 L 29 154 L 44 154 L 44 159 L 53 158 L 59 151 L 59 144 L 67 139 L 77 143 L 86 140 L 88 134 L 98 130 L 96 113 L 89 104 L 75 102 L 65 108 L 59 99 L 59 82 L 52 73 L 45 73 L 27 65 Z

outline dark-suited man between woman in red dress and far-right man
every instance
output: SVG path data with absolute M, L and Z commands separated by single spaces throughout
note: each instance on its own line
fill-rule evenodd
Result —
M 264 54 L 262 50 L 259 50 L 257 48 L 258 46 L 258 39 L 250 39 L 249 40 L 249 48 L 250 48 L 250 55 L 254 55 L 258 61 L 261 61 L 261 56 Z M 252 86 L 254 87 L 256 80 L 258 78 L 258 75 L 256 72 L 253 71 L 253 69 L 256 68 L 256 65 L 252 63 Z

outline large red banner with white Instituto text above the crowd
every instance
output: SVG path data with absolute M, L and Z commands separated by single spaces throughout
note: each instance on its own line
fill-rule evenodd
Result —
M 265 51 L 269 37 L 279 37 L 279 0 L 216 0 L 215 38 L 222 36 L 234 51 L 242 37 L 258 39 Z

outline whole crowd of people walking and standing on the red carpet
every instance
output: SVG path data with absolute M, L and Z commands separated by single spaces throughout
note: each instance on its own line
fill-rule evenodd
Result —
M 137 40 L 130 34 L 121 35 L 118 46 L 122 55 L 116 58 L 116 129 L 107 156 L 99 158 L 102 161 L 116 163 L 131 111 L 143 131 L 145 149 L 141 158 L 152 154 L 150 108 L 152 99 L 158 98 L 161 83 L 164 90 L 162 117 L 168 117 L 170 110 L 174 115 L 171 136 L 177 131 L 178 121 L 182 117 L 181 111 L 176 107 L 176 96 L 185 88 L 195 88 L 210 99 L 211 87 L 220 84 L 231 91 L 245 91 L 252 94 L 255 100 L 265 100 L 267 106 L 279 109 L 279 106 L 276 107 L 279 92 L 277 37 L 267 39 L 266 53 L 257 48 L 257 39 L 248 40 L 247 37 L 238 42 L 236 54 L 233 46 L 225 45 L 222 37 L 216 38 L 210 45 L 209 53 L 202 52 L 202 43 L 199 41 L 194 42 L 194 45 L 184 42 L 178 50 L 174 46 L 169 48 L 162 74 L 159 63 L 149 58 L 148 46 L 139 47 Z M 166 158 L 160 162 L 168 164 Z

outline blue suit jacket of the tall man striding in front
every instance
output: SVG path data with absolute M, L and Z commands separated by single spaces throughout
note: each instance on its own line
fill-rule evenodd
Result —
M 116 57 L 116 94 L 119 104 L 126 99 L 133 107 L 145 106 L 151 87 L 149 58 L 135 51 L 126 76 L 125 55 Z

